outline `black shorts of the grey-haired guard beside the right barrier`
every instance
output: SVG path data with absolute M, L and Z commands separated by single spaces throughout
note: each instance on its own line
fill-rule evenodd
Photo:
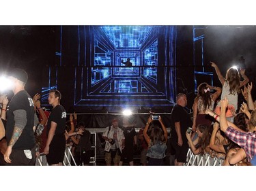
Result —
M 175 159 L 177 162 L 186 162 L 186 154 L 188 153 L 188 143 L 187 140 L 183 141 L 182 146 L 177 145 L 177 140 L 171 141 L 171 146 L 175 150 Z

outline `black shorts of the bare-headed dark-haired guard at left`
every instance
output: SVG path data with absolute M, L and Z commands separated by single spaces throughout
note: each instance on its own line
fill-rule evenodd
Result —
M 66 150 L 66 138 L 64 134 L 54 135 L 51 141 L 49 154 L 46 154 L 46 160 L 49 165 L 63 162 Z

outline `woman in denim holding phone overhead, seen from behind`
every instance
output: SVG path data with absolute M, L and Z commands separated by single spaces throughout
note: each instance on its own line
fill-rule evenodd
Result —
M 150 126 L 152 126 L 152 131 L 149 136 L 147 135 L 147 130 Z M 167 150 L 167 129 L 160 116 L 150 115 L 147 119 L 143 136 L 148 145 L 146 154 L 148 157 L 147 165 L 164 165 L 165 152 Z

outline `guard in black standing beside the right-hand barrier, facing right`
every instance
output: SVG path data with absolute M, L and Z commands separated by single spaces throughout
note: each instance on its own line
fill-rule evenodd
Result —
M 187 105 L 186 95 L 177 94 L 176 102 L 171 111 L 171 146 L 175 150 L 175 166 L 182 166 L 186 162 L 188 152 L 186 130 L 193 125 L 193 122 L 184 108 Z

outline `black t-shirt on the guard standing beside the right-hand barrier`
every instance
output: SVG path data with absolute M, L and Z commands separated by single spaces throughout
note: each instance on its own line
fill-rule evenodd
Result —
M 180 132 L 182 139 L 186 139 L 186 130 L 193 125 L 188 112 L 181 105 L 174 105 L 171 111 L 171 139 L 177 139 L 175 122 L 180 122 Z

